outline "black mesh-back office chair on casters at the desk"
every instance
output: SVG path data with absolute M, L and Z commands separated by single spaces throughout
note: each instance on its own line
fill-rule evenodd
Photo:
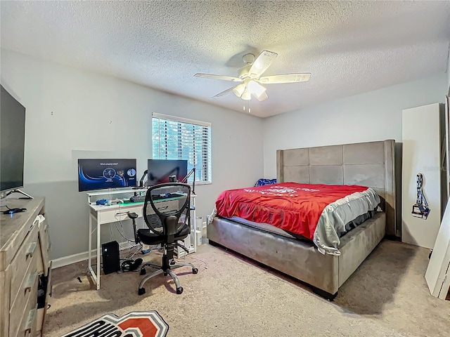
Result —
M 161 202 L 165 201 L 165 202 Z M 188 265 L 192 267 L 192 273 L 197 274 L 198 269 L 192 263 L 184 262 L 174 264 L 174 247 L 179 246 L 188 253 L 185 246 L 177 241 L 184 240 L 191 234 L 191 186 L 184 183 L 164 183 L 148 188 L 146 201 L 143 204 L 143 218 L 148 229 L 136 230 L 136 213 L 128 213 L 133 220 L 134 242 L 139 244 L 157 245 L 164 247 L 162 255 L 162 265 L 145 263 L 141 267 L 141 275 L 146 274 L 146 266 L 154 267 L 158 270 L 144 277 L 139 283 L 138 293 L 143 295 L 146 289 L 143 288 L 148 279 L 164 273 L 174 279 L 176 293 L 182 293 L 178 277 L 172 271 L 176 268 Z

